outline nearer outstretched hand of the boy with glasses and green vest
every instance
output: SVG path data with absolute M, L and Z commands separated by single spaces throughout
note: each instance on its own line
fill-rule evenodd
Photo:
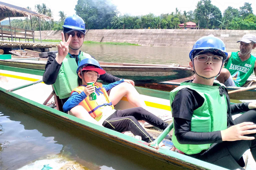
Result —
M 252 122 L 243 122 L 225 130 L 221 130 L 222 141 L 253 140 L 255 137 L 245 136 L 247 134 L 256 133 L 256 129 L 253 128 L 256 128 L 256 124 L 253 124 Z

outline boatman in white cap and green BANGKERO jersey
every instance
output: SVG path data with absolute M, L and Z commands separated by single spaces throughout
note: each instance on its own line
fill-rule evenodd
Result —
M 251 55 L 252 49 L 256 47 L 256 36 L 246 34 L 238 42 L 240 51 L 228 53 L 224 68 L 217 77 L 226 86 L 243 86 L 253 70 L 256 75 L 256 57 Z

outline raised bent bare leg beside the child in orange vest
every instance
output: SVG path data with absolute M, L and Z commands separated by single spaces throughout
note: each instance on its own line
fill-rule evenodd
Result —
M 146 108 L 144 100 L 140 97 L 140 94 L 129 83 L 121 83 L 113 87 L 110 91 L 109 98 L 113 105 L 116 105 L 122 97 L 126 95 L 127 100 L 135 107 Z

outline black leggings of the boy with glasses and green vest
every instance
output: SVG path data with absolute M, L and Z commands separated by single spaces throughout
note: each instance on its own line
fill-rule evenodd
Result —
M 256 109 L 250 110 L 234 120 L 234 124 L 253 122 L 256 124 Z M 256 133 L 250 135 L 256 137 Z M 227 169 L 237 169 L 245 166 L 242 155 L 250 149 L 256 160 L 256 139 L 236 140 L 214 143 L 208 150 L 198 154 L 188 155 Z M 187 155 L 187 154 L 186 154 Z

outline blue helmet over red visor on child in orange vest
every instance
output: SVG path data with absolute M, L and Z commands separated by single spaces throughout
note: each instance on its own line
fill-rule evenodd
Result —
M 88 67 L 89 69 L 86 69 L 86 66 L 94 66 L 94 67 Z M 100 75 L 105 74 L 106 71 L 103 70 L 103 68 L 100 67 L 100 64 L 97 60 L 95 60 L 94 58 L 85 58 L 83 59 L 79 65 L 78 68 L 76 70 L 76 73 L 78 73 L 79 71 L 82 70 L 92 70 L 92 71 L 96 71 L 98 72 Z

